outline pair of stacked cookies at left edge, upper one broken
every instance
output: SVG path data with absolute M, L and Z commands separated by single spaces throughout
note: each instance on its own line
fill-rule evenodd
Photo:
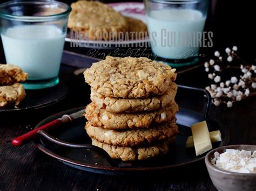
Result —
M 0 108 L 6 105 L 19 105 L 25 98 L 22 84 L 28 78 L 21 68 L 10 63 L 0 64 Z

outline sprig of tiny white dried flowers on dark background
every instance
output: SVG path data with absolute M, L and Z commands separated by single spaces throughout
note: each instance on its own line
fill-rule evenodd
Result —
M 212 102 L 216 106 L 225 103 L 228 108 L 231 108 L 234 102 L 241 101 L 243 98 L 256 93 L 256 67 L 241 60 L 237 55 L 237 50 L 237 46 L 233 46 L 232 50 L 226 48 L 226 55 L 224 56 L 215 51 L 214 56 L 217 59 L 211 59 L 204 63 L 208 78 L 214 81 L 211 86 L 207 86 L 205 89 L 210 92 Z M 240 66 L 231 65 L 230 63 L 234 60 L 238 61 Z M 240 76 L 232 76 L 230 80 L 221 81 L 221 72 L 228 68 L 239 69 Z

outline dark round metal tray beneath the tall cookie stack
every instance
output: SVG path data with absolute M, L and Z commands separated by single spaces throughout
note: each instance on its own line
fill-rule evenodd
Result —
M 187 87 L 179 86 L 179 88 Z M 201 90 L 197 88 L 192 89 Z M 206 120 L 209 131 L 220 130 L 223 140 L 213 143 L 213 148 L 225 146 L 228 143 L 228 131 L 220 123 L 208 118 L 207 113 L 210 108 L 210 101 L 208 101 L 207 105 L 206 115 L 180 108 L 180 111 L 176 115 L 180 131 L 176 143 L 170 147 L 169 154 L 158 159 L 131 163 L 110 159 L 102 149 L 95 148 L 95 146 L 91 145 L 91 139 L 84 130 L 86 122 L 84 117 L 70 124 L 63 125 L 61 130 L 51 131 L 51 136 L 44 132 L 40 133 L 43 137 L 36 140 L 36 145 L 41 151 L 66 165 L 94 173 L 123 175 L 184 166 L 204 159 L 207 154 L 196 156 L 194 148 L 186 148 L 186 139 L 188 136 L 191 136 L 191 124 Z M 46 118 L 37 127 L 53 121 L 53 119 L 59 118 L 64 114 L 71 114 L 81 109 L 83 107 L 60 112 L 59 114 Z

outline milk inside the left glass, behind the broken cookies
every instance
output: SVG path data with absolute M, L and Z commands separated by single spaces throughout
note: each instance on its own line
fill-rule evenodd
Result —
M 6 62 L 21 67 L 29 80 L 57 77 L 65 35 L 53 25 L 23 25 L 2 31 Z

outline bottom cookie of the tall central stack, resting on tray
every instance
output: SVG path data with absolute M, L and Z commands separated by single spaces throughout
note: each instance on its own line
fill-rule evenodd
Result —
M 159 155 L 165 155 L 169 151 L 168 145 L 172 142 L 175 142 L 175 138 L 171 138 L 154 146 L 132 148 L 108 145 L 92 139 L 92 145 L 103 148 L 112 159 L 123 161 L 146 160 L 157 157 Z

